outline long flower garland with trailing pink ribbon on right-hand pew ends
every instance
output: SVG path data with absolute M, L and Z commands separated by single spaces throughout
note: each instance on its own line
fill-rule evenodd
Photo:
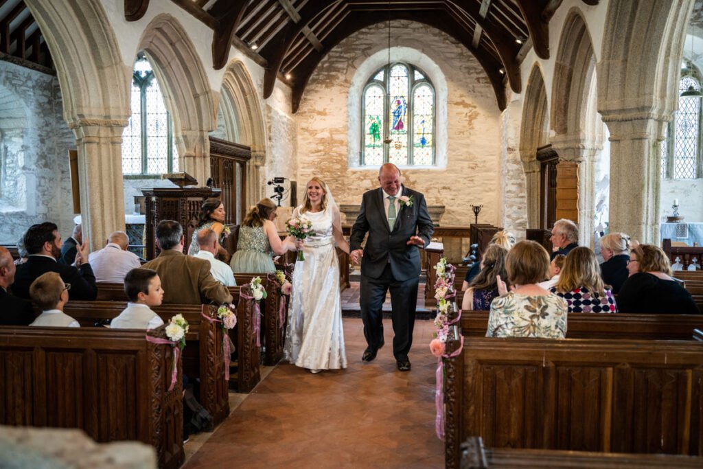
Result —
M 437 356 L 437 372 L 434 373 L 434 406 L 437 414 L 434 418 L 434 431 L 437 438 L 444 441 L 444 359 L 449 359 L 461 353 L 464 338 L 460 336 L 460 346 L 451 354 L 446 353 L 446 342 L 451 334 L 450 327 L 461 317 L 461 310 L 456 307 L 456 291 L 454 290 L 455 267 L 446 262 L 446 257 L 439 259 L 434 269 L 437 271 L 437 281 L 434 283 L 434 298 L 437 300 L 437 317 L 434 326 L 437 332 L 430 342 L 430 352 Z M 456 326 L 454 326 L 456 328 Z M 456 335 L 456 332 L 455 332 Z

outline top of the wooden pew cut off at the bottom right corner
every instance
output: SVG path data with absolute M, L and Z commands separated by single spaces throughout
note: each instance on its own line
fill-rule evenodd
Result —
M 701 468 L 703 458 L 679 454 L 596 453 L 556 449 L 484 448 L 480 437 L 461 445 L 461 469 L 477 468 Z

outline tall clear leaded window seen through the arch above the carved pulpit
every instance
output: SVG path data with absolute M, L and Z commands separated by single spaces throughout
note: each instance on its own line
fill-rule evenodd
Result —
M 131 116 L 122 132 L 122 174 L 178 172 L 171 115 L 143 53 L 134 63 L 129 105 Z

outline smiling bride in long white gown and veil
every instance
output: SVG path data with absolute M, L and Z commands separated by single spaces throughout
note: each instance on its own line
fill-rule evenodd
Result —
M 347 253 L 349 243 L 342 236 L 340 209 L 322 179 L 309 181 L 303 205 L 292 216 L 312 221 L 314 236 L 296 242 L 305 260 L 296 262 L 293 270 L 283 358 L 311 373 L 347 368 L 335 243 Z

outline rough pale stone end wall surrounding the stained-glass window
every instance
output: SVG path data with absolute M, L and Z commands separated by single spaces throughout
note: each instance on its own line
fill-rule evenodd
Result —
M 378 187 L 378 167 L 350 169 L 349 134 L 356 125 L 350 119 L 359 120 L 359 111 L 347 112 L 354 105 L 347 97 L 358 84 L 359 69 L 375 72 L 376 64 L 368 67 L 367 60 L 380 58 L 378 67 L 385 65 L 386 44 L 385 24 L 361 30 L 330 51 L 309 80 L 295 115 L 299 200 L 313 175 L 327 181 L 342 204 L 359 204 L 364 191 Z M 397 55 L 407 50 L 414 51 L 412 57 Z M 446 86 L 446 102 L 437 103 L 437 110 L 444 106 L 446 113 L 437 119 L 437 136 L 446 132 L 446 145 L 442 153 L 438 142 L 438 167 L 404 170 L 405 184 L 425 193 L 428 204 L 446 206 L 441 225 L 467 226 L 474 218 L 470 204 L 484 205 L 479 221 L 500 223 L 501 113 L 488 77 L 471 53 L 446 34 L 419 23 L 393 22 L 392 60 L 408 58 L 421 61 L 414 65 L 432 79 L 437 101 Z

